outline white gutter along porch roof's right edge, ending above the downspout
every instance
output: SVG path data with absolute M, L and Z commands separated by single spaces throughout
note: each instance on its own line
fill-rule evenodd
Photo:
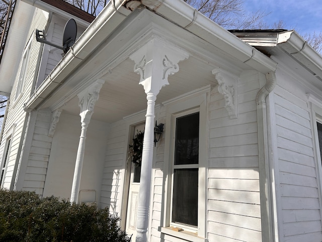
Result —
M 196 34 L 263 74 L 276 70 L 277 63 L 273 59 L 223 29 L 184 1 L 141 0 L 141 2 L 157 14 Z

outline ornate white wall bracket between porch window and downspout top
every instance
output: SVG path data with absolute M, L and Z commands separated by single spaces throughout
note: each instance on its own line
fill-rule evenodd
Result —
M 225 98 L 225 108 L 231 119 L 237 118 L 237 95 L 236 87 L 238 77 L 226 71 L 214 69 L 212 74 L 218 81 L 218 92 Z

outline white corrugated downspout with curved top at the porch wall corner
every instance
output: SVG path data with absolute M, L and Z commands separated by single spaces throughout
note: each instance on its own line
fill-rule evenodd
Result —
M 257 104 L 257 130 L 258 130 L 258 158 L 260 178 L 260 202 L 261 202 L 261 223 L 262 241 L 273 241 L 273 207 L 272 191 L 268 151 L 268 131 L 266 97 L 273 91 L 276 85 L 275 72 L 271 71 L 265 75 L 266 84 L 259 90 L 256 96 Z

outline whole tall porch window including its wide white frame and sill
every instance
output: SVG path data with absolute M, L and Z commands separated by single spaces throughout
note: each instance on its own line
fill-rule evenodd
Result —
M 206 92 L 209 90 L 205 88 L 204 92 L 193 93 L 167 106 L 165 219 L 160 231 L 193 242 L 207 241 Z

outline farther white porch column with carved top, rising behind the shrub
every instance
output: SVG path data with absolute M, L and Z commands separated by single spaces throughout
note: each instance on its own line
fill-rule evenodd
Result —
M 104 84 L 103 80 L 98 80 L 93 83 L 88 89 L 82 91 L 77 96 L 79 98 L 79 107 L 81 107 L 81 122 L 82 122 L 82 132 L 81 137 L 79 137 L 76 163 L 74 176 L 72 180 L 71 187 L 71 195 L 70 202 L 77 203 L 78 202 L 78 193 L 79 193 L 79 185 L 81 184 L 81 176 L 82 176 L 82 168 L 83 168 L 83 160 L 84 160 L 84 152 L 85 152 L 85 141 L 86 141 L 86 131 L 89 126 L 91 116 L 94 112 L 94 105 L 96 101 L 99 99 L 99 92 Z

